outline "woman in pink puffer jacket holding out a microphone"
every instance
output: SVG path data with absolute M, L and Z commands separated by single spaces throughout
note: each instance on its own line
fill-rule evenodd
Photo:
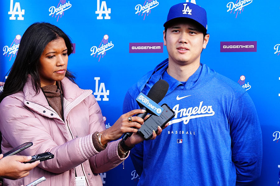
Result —
M 143 113 L 141 109 L 123 114 L 105 129 L 92 91 L 80 89 L 67 71 L 71 53 L 70 39 L 52 24 L 32 24 L 23 34 L 0 97 L 2 151 L 32 141 L 22 155 L 51 152 L 54 159 L 15 182 L 4 179 L 4 184 L 27 185 L 45 176 L 42 186 L 75 185 L 75 177 L 84 176 L 86 185 L 102 185 L 98 173 L 118 166 L 143 141 L 130 128 L 143 124 L 142 118 L 131 117 Z M 117 140 L 125 132 L 134 133 L 125 142 Z

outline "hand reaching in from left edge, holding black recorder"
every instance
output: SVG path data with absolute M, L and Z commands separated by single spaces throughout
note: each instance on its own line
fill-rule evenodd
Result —
M 39 165 L 40 161 L 22 163 L 31 160 L 31 156 L 7 156 L 0 154 L 0 177 L 7 179 L 19 179 L 29 175 L 29 171 Z

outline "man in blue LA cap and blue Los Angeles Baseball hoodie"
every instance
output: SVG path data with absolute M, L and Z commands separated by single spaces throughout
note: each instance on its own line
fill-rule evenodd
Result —
M 138 185 L 235 186 L 260 175 L 262 135 L 248 93 L 200 62 L 209 41 L 206 11 L 185 2 L 172 6 L 164 23 L 168 59 L 129 88 L 123 112 L 159 79 L 169 83 L 166 103 L 175 112 L 155 140 L 131 150 Z

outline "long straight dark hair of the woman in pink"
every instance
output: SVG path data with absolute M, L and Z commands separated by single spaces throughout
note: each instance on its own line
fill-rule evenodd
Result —
M 31 75 L 33 88 L 40 92 L 39 63 L 47 44 L 58 38 L 63 38 L 68 56 L 72 53 L 72 43 L 69 37 L 57 26 L 49 23 L 34 23 L 30 25 L 21 38 L 16 59 L 5 81 L 0 102 L 8 95 L 22 91 L 28 74 Z M 65 77 L 74 82 L 74 76 L 68 70 Z

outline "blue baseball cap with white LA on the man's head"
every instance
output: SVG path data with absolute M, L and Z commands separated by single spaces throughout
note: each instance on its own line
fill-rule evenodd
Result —
M 182 2 L 169 9 L 167 20 L 163 24 L 166 27 L 176 18 L 189 18 L 201 24 L 207 31 L 207 16 L 204 8 L 191 2 Z

